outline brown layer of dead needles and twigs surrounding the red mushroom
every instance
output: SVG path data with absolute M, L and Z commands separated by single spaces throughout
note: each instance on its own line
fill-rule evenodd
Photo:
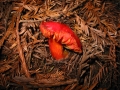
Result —
M 115 0 L 117 1 L 117 0 Z M 0 1 L 0 89 L 119 90 L 120 11 L 111 0 Z M 82 53 L 51 57 L 43 21 L 68 25 Z

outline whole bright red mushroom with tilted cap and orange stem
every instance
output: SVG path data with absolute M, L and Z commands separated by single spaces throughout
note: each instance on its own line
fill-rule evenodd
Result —
M 61 56 L 59 59 L 66 56 L 66 54 L 64 55 L 62 45 L 67 49 L 82 53 L 82 45 L 79 38 L 67 25 L 59 22 L 47 21 L 40 24 L 40 30 L 45 37 L 49 38 L 50 51 L 55 59 L 58 59 L 55 56 L 60 56 L 60 54 Z

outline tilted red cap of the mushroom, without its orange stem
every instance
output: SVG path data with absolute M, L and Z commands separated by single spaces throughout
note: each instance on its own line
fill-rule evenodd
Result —
M 53 38 L 66 48 L 82 53 L 80 39 L 67 25 L 54 21 L 41 22 L 40 30 L 45 37 Z

